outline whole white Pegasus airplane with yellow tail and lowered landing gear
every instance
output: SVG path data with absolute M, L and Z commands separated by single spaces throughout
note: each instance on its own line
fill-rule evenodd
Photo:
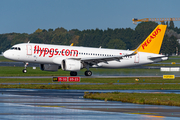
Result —
M 70 76 L 77 76 L 77 71 L 86 68 L 85 76 L 91 76 L 89 68 L 125 68 L 167 60 L 167 56 L 159 54 L 166 27 L 158 25 L 135 50 L 28 42 L 12 46 L 3 55 L 10 60 L 24 62 L 23 73 L 27 72 L 27 65 L 31 62 L 39 63 L 44 71 L 70 71 Z

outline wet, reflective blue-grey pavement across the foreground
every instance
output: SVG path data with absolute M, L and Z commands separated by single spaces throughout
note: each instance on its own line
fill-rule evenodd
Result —
M 84 99 L 87 90 L 0 89 L 0 119 L 179 120 L 180 107 Z M 89 92 L 163 92 L 180 90 L 88 90 Z

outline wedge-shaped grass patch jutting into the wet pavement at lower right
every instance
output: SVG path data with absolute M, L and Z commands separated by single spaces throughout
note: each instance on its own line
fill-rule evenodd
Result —
M 163 93 L 89 93 L 85 92 L 84 98 L 122 101 L 137 104 L 180 106 L 180 94 Z

